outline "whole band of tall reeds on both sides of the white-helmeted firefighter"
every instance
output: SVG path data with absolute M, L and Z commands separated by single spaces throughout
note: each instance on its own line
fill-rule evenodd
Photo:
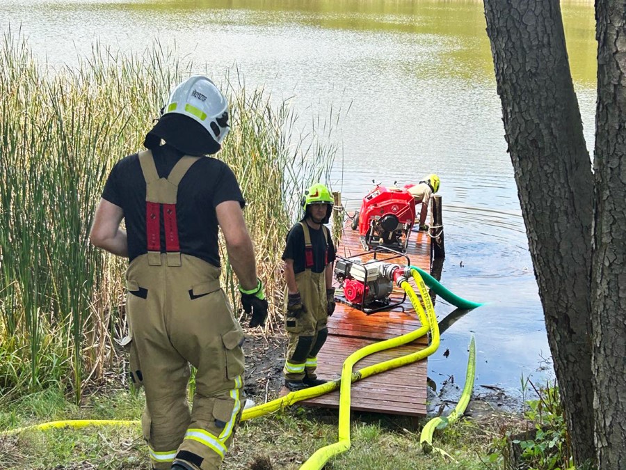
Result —
M 113 164 L 141 149 L 170 87 L 192 66 L 155 42 L 131 55 L 96 44 L 78 68 L 52 70 L 36 61 L 19 32 L 4 34 L 0 397 L 56 386 L 78 401 L 87 384 L 115 368 L 125 261 L 88 243 L 93 211 Z M 219 157 L 248 201 L 257 265 L 274 306 L 293 196 L 328 175 L 335 148 L 315 130 L 297 134 L 288 102 L 273 106 L 262 90 L 247 91 L 229 77 L 225 88 L 232 132 Z M 238 306 L 236 279 L 227 260 L 224 265 L 223 281 Z M 277 315 L 272 307 L 271 322 Z

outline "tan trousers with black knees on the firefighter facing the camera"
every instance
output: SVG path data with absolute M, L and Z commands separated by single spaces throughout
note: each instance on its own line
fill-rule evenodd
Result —
M 328 336 L 325 272 L 315 273 L 305 269 L 296 274 L 296 284 L 306 313 L 294 318 L 285 313 L 285 329 L 289 337 L 287 359 L 284 361 L 284 378 L 290 382 L 302 380 L 305 374 L 315 379 L 317 353 Z

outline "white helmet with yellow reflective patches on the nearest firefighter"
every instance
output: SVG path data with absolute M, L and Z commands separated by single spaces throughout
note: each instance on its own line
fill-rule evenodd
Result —
M 228 102 L 207 77 L 193 75 L 179 84 L 163 109 L 163 114 L 178 113 L 197 121 L 221 145 L 228 131 Z

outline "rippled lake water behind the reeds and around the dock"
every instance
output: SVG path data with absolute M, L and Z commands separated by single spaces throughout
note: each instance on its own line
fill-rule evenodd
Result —
M 593 150 L 592 1 L 562 1 L 572 77 Z M 447 258 L 442 283 L 485 301 L 459 318 L 429 359 L 441 384 L 463 386 L 467 345 L 481 385 L 509 393 L 552 375 L 481 1 L 0 1 L 0 27 L 21 24 L 35 54 L 77 63 L 95 41 L 141 52 L 154 38 L 198 72 L 238 67 L 249 87 L 294 97 L 303 116 L 339 112 L 332 189 L 350 209 L 372 186 L 441 178 Z M 305 122 L 306 120 L 303 120 Z M 438 301 L 441 320 L 454 310 Z M 449 357 L 443 352 L 448 349 Z

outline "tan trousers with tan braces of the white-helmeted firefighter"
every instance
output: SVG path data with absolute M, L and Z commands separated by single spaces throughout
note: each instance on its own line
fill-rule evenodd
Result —
M 177 164 L 159 178 L 151 155 L 140 162 L 147 202 L 175 204 L 186 170 Z M 180 252 L 148 251 L 127 270 L 131 375 L 145 388 L 143 436 L 156 470 L 176 460 L 217 469 L 241 418 L 244 336 L 219 278 L 218 267 Z M 191 413 L 189 364 L 198 369 Z

